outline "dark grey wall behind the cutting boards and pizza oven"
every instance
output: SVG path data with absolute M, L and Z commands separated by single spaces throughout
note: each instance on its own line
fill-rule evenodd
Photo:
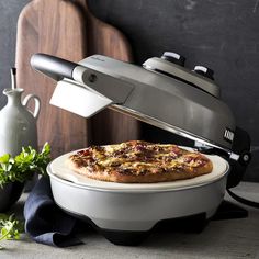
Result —
M 49 0 L 52 1 L 52 0 Z M 30 0 L 0 0 L 0 89 L 10 87 L 16 21 Z M 120 29 L 142 64 L 164 50 L 187 57 L 187 67 L 215 71 L 222 98 L 237 125 L 251 136 L 252 161 L 245 180 L 259 181 L 258 0 L 88 0 L 91 11 Z M 0 108 L 5 98 L 0 95 Z

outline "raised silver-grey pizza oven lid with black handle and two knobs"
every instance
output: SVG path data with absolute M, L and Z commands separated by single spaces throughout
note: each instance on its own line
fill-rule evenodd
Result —
M 165 56 L 139 67 L 101 55 L 75 64 L 35 54 L 31 65 L 58 81 L 50 104 L 85 117 L 110 108 L 195 140 L 238 164 L 230 185 L 250 160 L 249 136 L 236 126 L 215 82 Z

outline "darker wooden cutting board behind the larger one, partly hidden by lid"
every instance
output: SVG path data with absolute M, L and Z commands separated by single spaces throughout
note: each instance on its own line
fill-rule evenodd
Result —
M 86 14 L 88 54 L 102 54 L 123 61 L 133 61 L 131 45 L 123 33 L 97 19 L 90 12 L 87 0 L 74 0 L 74 2 Z M 109 109 L 91 119 L 91 140 L 99 145 L 140 137 L 138 121 Z

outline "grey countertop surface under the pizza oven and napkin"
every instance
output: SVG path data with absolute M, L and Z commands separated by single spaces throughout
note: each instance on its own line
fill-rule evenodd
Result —
M 259 202 L 259 183 L 241 182 L 235 193 Z M 26 194 L 13 210 L 22 212 Z M 226 200 L 233 201 L 227 194 Z M 236 203 L 234 201 L 234 203 Z M 140 246 L 115 246 L 91 230 L 80 236 L 85 245 L 55 248 L 32 241 L 26 234 L 21 240 L 4 240 L 0 258 L 257 258 L 259 259 L 259 210 L 246 207 L 247 218 L 212 221 L 200 234 L 153 233 Z

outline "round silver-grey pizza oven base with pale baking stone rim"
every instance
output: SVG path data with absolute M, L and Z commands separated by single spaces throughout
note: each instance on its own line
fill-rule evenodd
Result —
M 178 187 L 172 182 L 171 188 L 170 183 L 128 183 L 122 189 L 120 183 L 114 188 L 110 182 L 90 180 L 90 184 L 79 184 L 61 179 L 55 169 L 66 156 L 55 159 L 47 168 L 55 202 L 70 213 L 87 216 L 98 227 L 111 230 L 145 232 L 159 221 L 200 213 L 206 213 L 210 218 L 223 201 L 229 169 L 227 161 L 212 156 L 216 158 L 213 159 L 214 170 L 221 168 L 217 178 L 209 180 L 204 176 L 206 180 L 203 180 L 202 176 L 193 180 L 195 184 L 187 185 L 183 180 L 178 181 Z M 64 170 L 67 169 L 64 167 Z

